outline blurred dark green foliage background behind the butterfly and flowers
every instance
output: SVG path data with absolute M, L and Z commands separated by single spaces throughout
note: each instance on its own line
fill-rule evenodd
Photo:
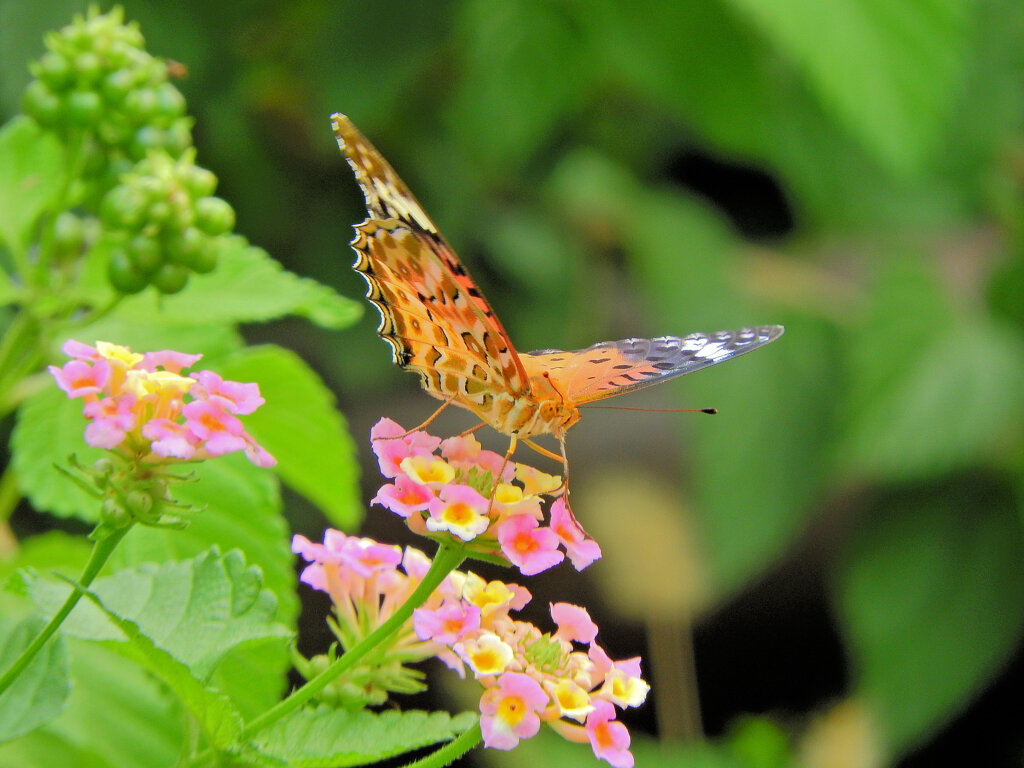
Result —
M 530 589 L 586 601 L 613 656 L 645 656 L 640 765 L 1024 761 L 1024 5 L 123 5 L 187 69 L 238 230 L 296 272 L 365 292 L 341 111 L 521 349 L 786 326 L 608 403 L 715 418 L 594 411 L 570 433 L 605 559 Z M 84 7 L 0 3 L 4 119 L 43 32 Z M 312 362 L 365 442 L 433 409 L 376 323 L 250 336 Z M 380 510 L 366 530 L 403 540 Z M 562 764 L 556 748 L 502 757 Z

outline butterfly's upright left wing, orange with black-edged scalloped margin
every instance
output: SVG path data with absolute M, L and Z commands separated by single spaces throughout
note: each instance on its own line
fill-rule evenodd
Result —
M 348 118 L 332 122 L 367 199 L 353 267 L 367 280 L 394 361 L 435 397 L 467 407 L 528 394 L 508 334 L 409 187 Z

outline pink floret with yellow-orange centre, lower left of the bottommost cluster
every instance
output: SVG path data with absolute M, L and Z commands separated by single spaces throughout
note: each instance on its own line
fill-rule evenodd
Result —
M 541 729 L 538 715 L 547 708 L 548 694 L 534 678 L 506 672 L 498 687 L 480 698 L 480 731 L 483 745 L 511 750 L 521 738 L 531 738 Z

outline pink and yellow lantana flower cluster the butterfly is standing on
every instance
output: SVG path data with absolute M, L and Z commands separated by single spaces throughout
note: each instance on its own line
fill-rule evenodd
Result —
M 561 479 L 481 449 L 472 435 L 442 440 L 407 432 L 381 419 L 370 433 L 381 472 L 391 482 L 373 499 L 409 527 L 436 538 L 454 537 L 467 549 L 501 557 L 524 575 L 561 562 L 578 570 L 601 556 L 572 517 Z M 544 504 L 551 501 L 545 523 Z

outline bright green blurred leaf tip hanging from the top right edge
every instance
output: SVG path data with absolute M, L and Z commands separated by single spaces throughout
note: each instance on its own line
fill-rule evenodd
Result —
M 965 76 L 964 0 L 729 0 L 879 160 L 918 168 L 935 148 Z

